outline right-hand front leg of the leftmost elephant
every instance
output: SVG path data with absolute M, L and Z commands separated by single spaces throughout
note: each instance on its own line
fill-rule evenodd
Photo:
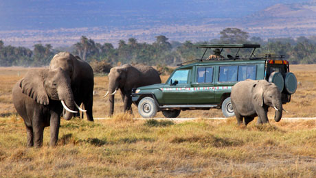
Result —
M 50 142 L 49 147 L 55 147 L 58 140 L 58 133 L 60 127 L 60 116 L 58 114 L 53 113 L 50 117 Z

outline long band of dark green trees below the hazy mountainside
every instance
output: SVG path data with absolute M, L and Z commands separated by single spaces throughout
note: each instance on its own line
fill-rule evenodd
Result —
M 117 64 L 143 63 L 148 65 L 175 65 L 180 62 L 201 58 L 203 49 L 192 47 L 192 42 L 169 41 L 166 36 L 156 36 L 152 44 L 137 42 L 135 38 L 120 40 L 118 47 L 104 42 L 95 42 L 82 36 L 68 49 L 53 49 L 51 44 L 34 44 L 34 49 L 5 46 L 0 40 L 0 66 L 46 66 L 54 54 L 69 51 L 87 62 L 108 62 Z M 299 38 L 271 38 L 262 40 L 250 37 L 247 31 L 226 28 L 220 32 L 220 38 L 196 43 L 251 43 L 261 44 L 257 53 L 282 54 L 291 64 L 316 63 L 316 36 Z

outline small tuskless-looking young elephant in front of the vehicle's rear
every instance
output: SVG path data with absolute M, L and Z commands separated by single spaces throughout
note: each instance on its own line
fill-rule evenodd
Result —
M 232 87 L 232 107 L 237 118 L 238 125 L 250 123 L 258 116 L 258 124 L 269 123 L 267 112 L 269 107 L 275 109 L 274 120 L 279 122 L 282 118 L 282 99 L 278 86 L 262 80 L 240 81 Z

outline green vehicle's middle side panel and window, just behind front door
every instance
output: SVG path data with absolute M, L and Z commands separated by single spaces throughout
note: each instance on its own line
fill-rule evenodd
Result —
M 196 66 L 192 90 L 188 92 L 188 104 L 214 103 L 214 67 Z

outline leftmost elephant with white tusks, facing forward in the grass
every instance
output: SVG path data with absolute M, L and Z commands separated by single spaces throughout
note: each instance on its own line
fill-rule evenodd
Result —
M 27 147 L 42 147 L 43 131 L 50 125 L 49 145 L 58 140 L 60 114 L 72 118 L 76 107 L 70 88 L 69 75 L 61 68 L 34 69 L 12 88 L 12 101 L 16 112 L 23 118 L 27 131 Z

